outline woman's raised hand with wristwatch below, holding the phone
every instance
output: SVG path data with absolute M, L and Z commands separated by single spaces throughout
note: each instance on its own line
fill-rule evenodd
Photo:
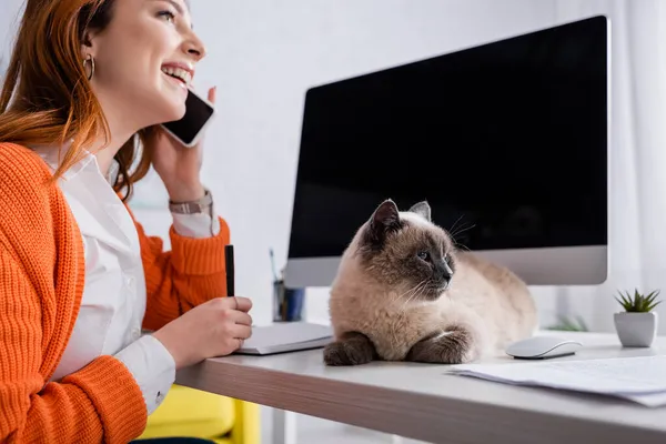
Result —
M 209 90 L 208 100 L 215 103 L 215 88 Z M 199 175 L 202 152 L 201 140 L 196 145 L 186 148 L 163 129 L 158 129 L 152 165 L 173 202 L 189 202 L 203 198 L 204 189 Z

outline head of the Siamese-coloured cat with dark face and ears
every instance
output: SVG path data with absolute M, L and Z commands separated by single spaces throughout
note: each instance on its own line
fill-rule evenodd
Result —
M 386 200 L 360 234 L 356 253 L 364 272 L 403 299 L 434 301 L 448 287 L 455 272 L 453 242 L 432 223 L 426 202 L 400 212 Z

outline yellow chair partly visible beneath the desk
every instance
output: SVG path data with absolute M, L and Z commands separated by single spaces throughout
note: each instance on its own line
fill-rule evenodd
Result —
M 174 384 L 139 440 L 188 436 L 259 444 L 260 433 L 259 405 Z

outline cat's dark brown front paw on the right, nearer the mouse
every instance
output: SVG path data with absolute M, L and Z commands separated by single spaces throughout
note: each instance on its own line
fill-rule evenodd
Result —
M 405 360 L 433 364 L 464 364 L 472 360 L 472 346 L 470 332 L 455 329 L 418 341 Z

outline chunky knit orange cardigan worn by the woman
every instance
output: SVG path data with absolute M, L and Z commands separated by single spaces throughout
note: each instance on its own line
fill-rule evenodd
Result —
M 74 326 L 84 285 L 78 225 L 50 170 L 27 148 L 0 143 L 0 442 L 127 443 L 147 410 L 128 369 L 100 356 L 49 382 Z M 157 330 L 203 301 L 225 294 L 220 234 L 170 231 L 172 251 L 137 224 L 145 272 L 144 327 Z

